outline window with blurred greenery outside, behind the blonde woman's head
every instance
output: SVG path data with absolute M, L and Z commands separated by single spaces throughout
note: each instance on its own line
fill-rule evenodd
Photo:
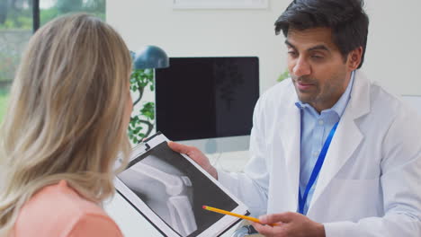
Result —
M 75 12 L 105 20 L 105 0 L 0 0 L 0 121 L 32 32 L 59 15 Z

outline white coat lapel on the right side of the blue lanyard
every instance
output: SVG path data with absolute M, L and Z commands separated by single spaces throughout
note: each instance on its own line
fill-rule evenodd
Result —
M 362 117 L 370 111 L 370 83 L 360 73 L 356 72 L 351 98 L 346 106 L 344 115 L 339 121 L 336 134 L 327 151 L 323 167 L 319 173 L 316 189 L 314 190 L 308 215 L 311 207 L 327 188 L 330 180 L 342 168 L 345 162 L 354 154 L 354 151 L 363 140 L 363 134 L 356 123 L 356 118 Z

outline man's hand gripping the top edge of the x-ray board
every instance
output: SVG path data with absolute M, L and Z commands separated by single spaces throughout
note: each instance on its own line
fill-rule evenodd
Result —
M 201 150 L 194 146 L 182 145 L 171 141 L 168 142 L 168 146 L 177 153 L 189 156 L 194 162 L 197 162 L 197 164 L 202 166 L 205 171 L 208 171 L 213 178 L 218 180 L 218 171 L 210 164 L 208 157 L 206 157 Z

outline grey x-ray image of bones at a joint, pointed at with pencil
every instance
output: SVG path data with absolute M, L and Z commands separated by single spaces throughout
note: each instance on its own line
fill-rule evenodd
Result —
M 139 155 L 119 179 L 181 236 L 196 236 L 223 215 L 202 205 L 233 210 L 237 202 L 166 143 Z

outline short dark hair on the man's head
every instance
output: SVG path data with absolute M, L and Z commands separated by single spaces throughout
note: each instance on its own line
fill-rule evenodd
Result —
M 346 60 L 348 53 L 363 47 L 363 65 L 369 19 L 363 0 L 294 0 L 275 22 L 275 33 L 282 30 L 307 30 L 317 27 L 332 29 L 333 42 Z

